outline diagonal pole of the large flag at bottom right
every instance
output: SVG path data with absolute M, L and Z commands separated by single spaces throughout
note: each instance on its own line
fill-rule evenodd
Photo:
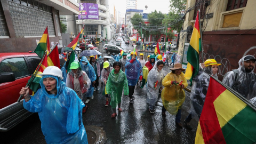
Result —
M 253 110 L 256 111 L 256 106 L 253 105 L 249 100 L 245 99 L 241 94 L 239 94 L 238 92 L 234 91 L 233 89 L 231 89 L 229 86 L 227 86 L 226 84 L 222 83 L 221 81 L 219 81 L 219 79 L 213 77 L 212 75 L 208 74 L 210 77 L 212 77 L 215 81 L 219 82 L 222 86 L 224 86 L 227 90 L 229 90 L 231 93 L 233 93 L 234 95 L 236 95 L 236 97 L 240 100 L 242 100 L 244 103 L 246 103 L 246 105 L 248 105 L 249 107 L 251 107 Z

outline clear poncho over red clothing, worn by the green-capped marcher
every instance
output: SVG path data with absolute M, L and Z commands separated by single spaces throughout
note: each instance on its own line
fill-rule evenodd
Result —
M 76 85 L 74 84 L 74 79 L 78 78 L 79 84 Z M 87 84 L 84 84 L 84 81 L 87 82 Z M 66 86 L 69 87 L 72 90 L 77 90 L 75 89 L 75 86 L 79 87 L 79 90 L 76 91 L 76 94 L 78 95 L 78 97 L 82 100 L 82 96 L 87 92 L 87 90 L 90 88 L 91 85 L 91 80 L 90 78 L 87 76 L 87 74 L 85 73 L 85 71 L 83 70 L 79 70 L 77 71 L 77 75 L 74 74 L 74 72 L 70 69 L 68 76 L 67 76 L 67 81 L 66 81 Z

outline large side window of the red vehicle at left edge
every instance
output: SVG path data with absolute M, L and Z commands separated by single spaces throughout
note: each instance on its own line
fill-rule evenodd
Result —
M 0 73 L 13 73 L 15 78 L 29 75 L 24 58 L 5 59 L 0 63 Z

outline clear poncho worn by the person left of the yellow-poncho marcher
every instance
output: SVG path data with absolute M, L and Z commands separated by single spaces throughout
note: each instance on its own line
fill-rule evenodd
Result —
M 153 68 L 148 73 L 147 79 L 147 102 L 150 105 L 155 105 L 158 98 L 159 87 L 163 87 L 162 80 L 164 78 L 163 69 L 158 71 L 158 68 Z M 157 82 L 157 85 L 156 85 Z M 156 85 L 156 87 L 155 87 Z

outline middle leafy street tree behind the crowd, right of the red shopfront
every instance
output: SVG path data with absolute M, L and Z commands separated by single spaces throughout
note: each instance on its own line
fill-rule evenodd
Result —
M 159 39 L 161 37 L 161 34 L 163 33 L 163 30 L 161 29 L 157 30 L 157 27 L 163 27 L 162 21 L 165 18 L 165 14 L 163 14 L 161 11 L 157 12 L 156 10 L 154 12 L 151 12 L 148 14 L 148 21 L 149 21 L 149 29 L 152 29 L 149 31 L 150 35 L 156 36 L 156 39 Z

